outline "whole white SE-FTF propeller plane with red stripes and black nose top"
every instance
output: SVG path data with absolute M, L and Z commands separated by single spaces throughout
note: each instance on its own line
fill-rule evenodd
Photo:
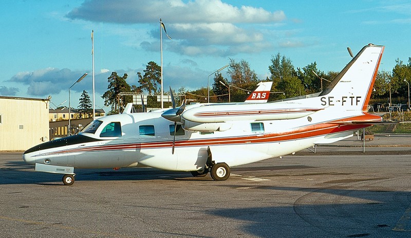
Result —
M 321 92 L 267 103 L 198 103 L 98 118 L 77 135 L 27 150 L 35 170 L 152 167 L 226 180 L 230 168 L 353 136 L 382 118 L 366 112 L 384 46 L 368 44 Z

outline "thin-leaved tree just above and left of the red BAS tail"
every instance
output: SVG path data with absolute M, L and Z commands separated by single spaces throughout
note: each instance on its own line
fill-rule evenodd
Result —
M 258 81 L 254 70 L 250 69 L 250 64 L 245 60 L 237 63 L 234 59 L 230 59 L 227 72 L 231 76 L 231 83 L 239 87 Z

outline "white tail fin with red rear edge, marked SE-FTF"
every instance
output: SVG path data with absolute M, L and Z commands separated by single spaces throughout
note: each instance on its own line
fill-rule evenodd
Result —
M 323 106 L 366 111 L 384 46 L 368 44 L 319 95 Z

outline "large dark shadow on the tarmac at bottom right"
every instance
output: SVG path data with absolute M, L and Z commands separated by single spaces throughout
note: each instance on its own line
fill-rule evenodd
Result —
M 237 219 L 245 224 L 242 235 L 258 237 L 410 237 L 410 192 L 273 186 L 250 189 L 309 193 L 293 206 L 228 208 L 208 213 Z M 323 195 L 332 199 L 322 202 Z

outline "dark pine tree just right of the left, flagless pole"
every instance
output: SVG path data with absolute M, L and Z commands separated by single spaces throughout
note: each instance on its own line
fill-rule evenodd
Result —
M 105 106 L 111 106 L 111 111 L 109 114 L 117 113 L 118 108 L 118 95 L 121 92 L 130 92 L 130 85 L 126 82 L 127 74 L 124 74 L 123 77 L 117 75 L 117 72 L 111 72 L 108 79 L 107 91 L 103 94 L 102 98 L 104 99 Z M 121 105 L 124 107 L 128 102 L 132 102 L 133 98 L 131 96 L 124 96 L 121 98 Z

